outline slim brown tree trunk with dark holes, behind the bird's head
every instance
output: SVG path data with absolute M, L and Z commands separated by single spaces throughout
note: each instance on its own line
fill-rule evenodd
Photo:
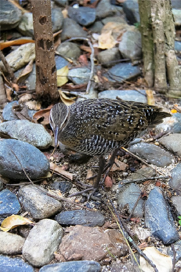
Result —
M 36 52 L 36 94 L 44 100 L 59 98 L 50 0 L 32 0 Z

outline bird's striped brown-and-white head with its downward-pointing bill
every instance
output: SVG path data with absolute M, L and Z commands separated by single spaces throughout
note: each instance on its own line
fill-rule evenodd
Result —
M 50 125 L 54 132 L 55 148 L 57 148 L 59 135 L 66 127 L 70 118 L 70 110 L 67 105 L 58 103 L 50 111 Z

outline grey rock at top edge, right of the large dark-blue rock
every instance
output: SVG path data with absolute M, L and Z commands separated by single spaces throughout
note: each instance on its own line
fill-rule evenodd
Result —
M 100 1 L 96 8 L 96 16 L 98 18 L 105 18 L 116 13 L 116 8 L 110 4 L 110 1 Z

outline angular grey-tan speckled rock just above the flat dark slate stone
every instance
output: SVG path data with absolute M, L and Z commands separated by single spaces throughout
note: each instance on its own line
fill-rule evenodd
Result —
M 38 188 L 43 190 L 39 191 Z M 32 184 L 21 186 L 19 189 L 19 200 L 25 211 L 30 212 L 34 220 L 40 220 L 53 216 L 62 209 L 62 204 L 46 195 L 46 190 L 40 186 L 33 186 Z

